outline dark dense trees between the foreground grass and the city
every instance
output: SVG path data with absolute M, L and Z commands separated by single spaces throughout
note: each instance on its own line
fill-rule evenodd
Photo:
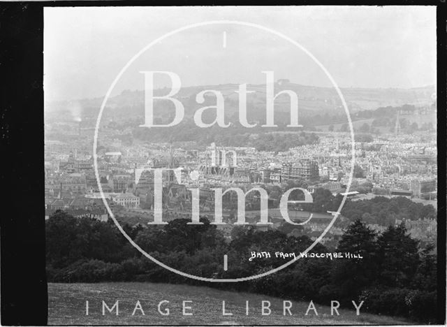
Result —
M 338 197 L 318 205 L 330 208 Z M 319 202 L 318 202 L 319 201 Z M 317 209 L 317 208 L 314 208 Z M 249 282 L 235 284 L 203 283 L 181 277 L 145 258 L 111 222 L 77 219 L 58 211 L 46 221 L 47 278 L 49 282 L 139 281 L 196 284 L 237 289 L 294 300 L 314 300 L 327 304 L 339 300 L 365 300 L 362 310 L 377 314 L 409 317 L 413 321 L 434 322 L 437 314 L 437 254 L 434 245 L 421 245 L 401 226 L 390 226 L 383 233 L 368 228 L 365 221 L 407 217 L 435 217 L 432 206 L 412 203 L 406 198 L 377 197 L 348 202 L 342 214 L 351 224 L 337 249 L 316 245 L 312 252 L 351 252 L 363 259 L 300 259 L 293 265 Z M 369 215 L 369 216 L 367 216 Z M 255 275 L 285 263 L 270 259 L 249 261 L 252 251 L 295 252 L 312 244 L 305 235 L 287 236 L 281 230 L 257 231 L 237 226 L 231 240 L 223 237 L 205 218 L 200 226 L 186 219 L 175 219 L 164 226 L 129 226 L 124 231 L 149 254 L 168 266 L 193 275 L 210 278 L 236 278 Z M 222 258 L 228 255 L 228 271 Z

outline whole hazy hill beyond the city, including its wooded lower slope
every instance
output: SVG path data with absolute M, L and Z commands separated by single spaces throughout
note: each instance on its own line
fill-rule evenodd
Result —
M 144 122 L 145 94 L 142 91 L 124 91 L 112 96 L 101 117 L 101 126 L 109 128 L 113 138 L 130 143 L 133 139 L 151 142 L 194 142 L 207 145 L 212 142 L 225 146 L 248 144 L 259 151 L 284 151 L 290 146 L 313 144 L 316 138 L 306 134 L 294 136 L 302 138 L 299 142 L 291 136 L 269 135 L 273 131 L 291 131 L 290 99 L 287 95 L 275 99 L 274 123 L 277 127 L 263 127 L 266 122 L 265 85 L 249 85 L 247 89 L 256 90 L 247 96 L 247 120 L 256 126 L 248 129 L 240 124 L 239 99 L 235 92 L 237 85 L 205 85 L 184 87 L 175 98 L 184 106 L 184 118 L 171 129 L 147 129 L 140 127 Z M 432 99 L 432 87 L 417 89 L 343 89 L 349 106 L 354 129 L 365 133 L 390 133 L 395 126 L 397 112 L 402 111 L 400 123 L 403 133 L 416 130 L 432 131 L 436 126 L 436 102 Z M 214 124 L 211 128 L 200 128 L 193 121 L 194 113 L 205 106 L 216 106 L 214 94 L 205 94 L 204 103 L 197 103 L 196 94 L 204 90 L 216 90 L 224 97 L 225 122 L 228 128 Z M 286 83 L 274 85 L 274 92 L 291 89 L 298 94 L 299 122 L 302 131 L 348 131 L 346 112 L 335 89 L 328 87 L 308 87 Z M 170 89 L 156 89 L 155 95 L 166 95 Z M 416 101 L 417 100 L 417 101 Z M 93 129 L 103 99 L 83 99 L 48 103 L 45 110 L 45 124 L 65 122 L 78 124 L 81 128 Z M 360 103 L 360 104 L 359 104 Z M 396 105 L 397 103 L 397 105 Z M 381 105 L 381 106 L 379 106 Z M 171 101 L 155 101 L 154 123 L 173 122 L 175 110 Z M 216 118 L 214 110 L 203 112 L 203 122 L 212 123 Z M 414 123 L 414 124 L 413 124 Z M 78 129 L 78 126 L 75 126 Z M 49 134 L 48 134 L 49 135 Z M 60 138 L 60 136 L 52 136 Z M 289 143 L 293 143 L 292 145 Z

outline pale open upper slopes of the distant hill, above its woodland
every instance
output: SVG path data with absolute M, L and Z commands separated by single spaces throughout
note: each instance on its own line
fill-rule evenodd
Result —
M 175 96 L 182 101 L 185 107 L 186 117 L 191 117 L 197 108 L 204 105 L 198 105 L 195 101 L 196 94 L 205 89 L 214 89 L 221 92 L 225 98 L 226 115 L 230 117 L 238 110 L 238 95 L 235 93 L 238 85 L 204 85 L 194 87 L 182 87 Z M 298 85 L 293 83 L 275 84 L 275 92 L 283 89 L 290 89 L 298 94 L 300 99 L 300 115 L 312 116 L 333 112 L 335 108 L 342 110 L 342 102 L 331 87 L 312 87 Z M 265 85 L 247 85 L 247 89 L 256 91 L 254 94 L 247 95 L 247 107 L 249 117 L 260 119 L 265 115 Z M 346 100 L 351 114 L 360 110 L 373 110 L 386 106 L 402 106 L 404 104 L 413 104 L 415 106 L 425 106 L 433 102 L 432 94 L 435 92 L 434 85 L 426 87 L 416 87 L 412 89 L 363 89 L 363 88 L 342 88 L 342 94 Z M 156 89 L 156 95 L 164 95 L 169 92 L 168 88 Z M 214 96 L 210 95 L 210 104 L 214 102 Z M 54 115 L 73 119 L 76 115 L 85 117 L 96 117 L 98 109 L 101 106 L 103 98 L 80 99 L 77 101 L 58 101 L 45 103 L 45 118 L 51 118 Z M 119 118 L 137 117 L 144 113 L 144 92 L 143 91 L 123 91 L 117 96 L 112 96 L 107 103 L 107 114 Z M 167 103 L 167 101 L 163 101 Z M 288 111 L 288 97 L 279 96 L 277 99 L 279 111 Z M 169 105 L 168 105 L 169 106 Z M 160 110 L 162 119 L 166 119 L 169 110 Z

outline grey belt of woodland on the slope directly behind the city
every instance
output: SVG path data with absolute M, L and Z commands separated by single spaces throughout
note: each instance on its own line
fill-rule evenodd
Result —
M 407 112 L 416 112 L 415 106 L 404 105 L 400 107 L 383 107 L 376 110 L 362 110 L 351 115 L 353 122 L 362 119 L 372 119 L 370 123 L 365 122 L 355 128 L 356 142 L 371 143 L 374 134 L 380 134 L 382 131 L 387 133 L 395 132 L 397 111 L 406 110 Z M 210 112 L 207 112 L 209 114 Z M 205 122 L 210 123 L 215 117 L 204 115 Z M 288 133 L 291 131 L 287 127 L 290 123 L 290 115 L 287 112 L 275 112 L 274 122 L 276 127 L 263 127 L 265 117 L 257 117 L 249 121 L 250 124 L 257 124 L 253 128 L 247 129 L 239 122 L 236 114 L 230 115 L 226 122 L 230 122 L 228 128 L 222 128 L 214 125 L 210 128 L 200 128 L 196 126 L 191 117 L 186 117 L 174 129 L 147 129 L 139 127 L 138 119 L 124 119 L 122 122 L 110 122 L 108 127 L 117 131 L 128 130 L 115 136 L 124 142 L 131 144 L 133 139 L 147 142 L 195 142 L 199 147 L 205 147 L 214 142 L 221 146 L 240 146 L 255 147 L 258 151 L 284 152 L 300 145 L 318 144 L 319 138 L 316 133 L 318 126 L 329 125 L 329 131 L 349 132 L 349 125 L 346 122 L 344 113 L 328 113 L 317 115 L 302 115 L 300 124 L 303 127 L 295 128 L 293 131 L 299 133 Z M 173 117 L 158 117 L 154 119 L 155 124 L 168 124 Z M 402 115 L 399 119 L 403 133 L 411 134 L 416 131 L 434 131 L 432 122 L 413 122 L 412 119 Z M 335 128 L 333 124 L 342 124 Z M 325 129 L 324 129 L 325 130 Z M 286 133 L 284 133 L 286 132 Z

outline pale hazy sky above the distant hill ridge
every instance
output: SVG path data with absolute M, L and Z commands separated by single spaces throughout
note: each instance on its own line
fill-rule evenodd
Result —
M 45 100 L 104 96 L 145 45 L 210 20 L 251 22 L 281 32 L 312 52 L 340 87 L 436 82 L 433 6 L 45 8 Z M 250 27 L 214 25 L 176 34 L 145 52 L 113 94 L 143 89 L 142 70 L 175 71 L 182 85 L 216 85 L 261 84 L 261 71 L 270 69 L 275 79 L 330 86 L 321 69 L 290 43 Z

